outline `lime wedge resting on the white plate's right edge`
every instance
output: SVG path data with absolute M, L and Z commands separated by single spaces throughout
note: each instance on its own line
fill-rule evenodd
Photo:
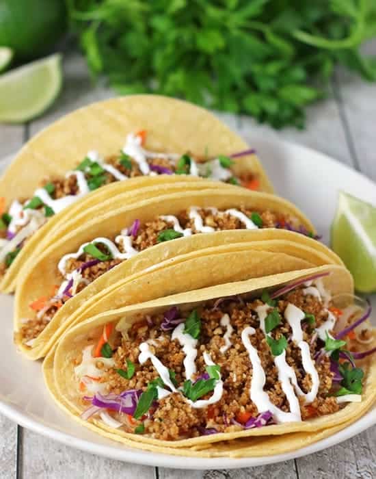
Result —
M 332 248 L 353 274 L 355 288 L 376 291 L 376 207 L 340 192 Z

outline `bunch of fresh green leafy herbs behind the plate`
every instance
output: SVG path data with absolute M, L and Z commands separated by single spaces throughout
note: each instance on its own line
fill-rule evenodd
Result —
M 375 0 L 67 0 L 94 76 L 121 94 L 155 92 L 304 126 L 334 64 L 368 80 Z

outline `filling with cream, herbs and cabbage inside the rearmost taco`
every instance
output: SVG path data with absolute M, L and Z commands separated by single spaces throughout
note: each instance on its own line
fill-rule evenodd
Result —
M 189 174 L 258 190 L 259 181 L 252 172 L 234 176 L 235 157 L 254 153 L 247 150 L 234 155 L 219 155 L 209 161 L 193 159 L 189 153 L 155 153 L 144 148 L 146 132 L 130 133 L 118 155 L 103 159 L 90 151 L 65 177 L 45 179 L 32 198 L 14 200 L 8 211 L 0 205 L 0 276 L 11 266 L 23 244 L 51 216 L 76 200 L 114 181 L 143 175 Z

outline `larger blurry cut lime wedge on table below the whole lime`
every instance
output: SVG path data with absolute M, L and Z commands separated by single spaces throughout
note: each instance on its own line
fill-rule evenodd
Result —
M 22 123 L 40 115 L 62 86 L 59 54 L 51 55 L 0 77 L 0 121 Z

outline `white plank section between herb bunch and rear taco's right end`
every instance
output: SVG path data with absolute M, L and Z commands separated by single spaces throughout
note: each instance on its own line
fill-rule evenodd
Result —
M 316 103 L 307 109 L 306 129 L 284 128 L 276 131 L 268 125 L 260 125 L 253 118 L 242 116 L 239 133 L 252 146 L 252 135 L 262 134 L 273 141 L 276 138 L 304 144 L 322 153 L 352 164 L 347 148 L 345 132 L 340 122 L 338 106 L 333 98 Z M 263 158 L 260 158 L 263 161 Z

